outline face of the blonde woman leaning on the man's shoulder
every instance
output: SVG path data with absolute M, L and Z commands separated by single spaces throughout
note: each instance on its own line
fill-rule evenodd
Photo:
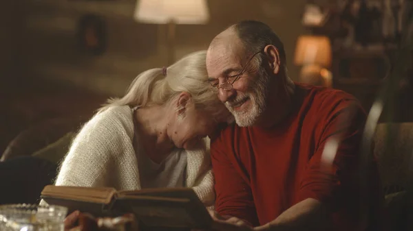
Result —
M 191 100 L 187 101 L 184 106 L 180 106 L 174 117 L 171 140 L 176 147 L 184 149 L 193 149 L 202 138 L 213 134 L 224 119 L 214 118 L 211 113 L 195 109 Z M 228 112 L 228 114 L 230 114 Z

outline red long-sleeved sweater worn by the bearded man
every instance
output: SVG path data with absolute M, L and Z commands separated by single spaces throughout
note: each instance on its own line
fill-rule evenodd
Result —
M 293 110 L 279 125 L 231 125 L 213 138 L 216 210 L 257 226 L 314 198 L 329 206 L 335 230 L 354 230 L 360 202 L 370 206 L 370 219 L 377 220 L 383 195 L 375 161 L 370 163 L 368 198 L 359 195 L 359 145 L 366 113 L 343 91 L 296 86 Z M 343 121 L 341 115 L 352 120 Z M 330 138 L 340 143 L 326 167 L 321 156 Z M 375 228 L 370 223 L 370 229 Z

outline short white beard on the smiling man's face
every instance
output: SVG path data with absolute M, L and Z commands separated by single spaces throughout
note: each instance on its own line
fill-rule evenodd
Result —
M 254 125 L 258 117 L 266 110 L 266 96 L 268 93 L 269 76 L 265 70 L 260 70 L 257 81 L 250 87 L 247 93 L 237 93 L 237 97 L 232 101 L 226 101 L 225 106 L 235 118 L 235 122 L 240 127 Z M 249 97 L 250 106 L 244 110 L 234 110 L 233 106 L 246 97 Z

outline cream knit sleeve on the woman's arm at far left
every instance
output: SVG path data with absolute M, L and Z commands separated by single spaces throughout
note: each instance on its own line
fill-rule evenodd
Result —
M 57 176 L 59 186 L 109 186 L 120 149 L 121 123 L 110 110 L 96 114 L 78 133 Z

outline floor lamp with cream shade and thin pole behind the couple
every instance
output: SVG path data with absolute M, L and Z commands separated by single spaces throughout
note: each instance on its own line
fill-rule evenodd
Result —
M 175 59 L 176 24 L 206 24 L 209 10 L 206 0 L 138 0 L 134 19 L 140 23 L 167 24 L 168 64 Z

